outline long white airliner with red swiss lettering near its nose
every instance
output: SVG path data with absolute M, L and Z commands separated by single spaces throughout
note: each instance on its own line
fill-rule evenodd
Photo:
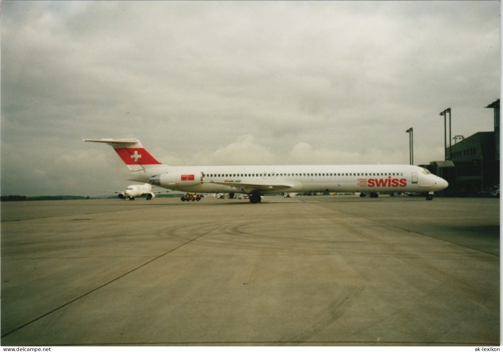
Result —
M 169 166 L 150 155 L 134 138 L 83 139 L 111 145 L 129 168 L 126 180 L 194 193 L 244 193 L 251 203 L 284 192 L 421 192 L 433 199 L 449 184 L 413 165 L 265 165 Z

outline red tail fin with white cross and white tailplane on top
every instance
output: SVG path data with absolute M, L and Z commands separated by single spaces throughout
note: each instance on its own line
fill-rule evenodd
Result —
M 107 143 L 131 171 L 138 171 L 161 165 L 136 138 L 125 139 L 82 139 L 85 142 Z

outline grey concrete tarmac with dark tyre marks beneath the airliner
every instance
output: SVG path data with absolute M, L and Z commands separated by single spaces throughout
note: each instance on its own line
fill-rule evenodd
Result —
M 493 346 L 499 199 L 1 205 L 3 346 Z

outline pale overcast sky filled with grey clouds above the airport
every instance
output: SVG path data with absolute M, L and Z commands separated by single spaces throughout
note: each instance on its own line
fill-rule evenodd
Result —
M 3 1 L 2 195 L 122 190 L 106 144 L 171 165 L 444 159 L 493 131 L 500 3 Z

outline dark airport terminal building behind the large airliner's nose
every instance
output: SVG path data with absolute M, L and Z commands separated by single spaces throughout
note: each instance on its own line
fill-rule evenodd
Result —
M 444 196 L 495 195 L 499 189 L 499 99 L 486 108 L 494 109 L 494 131 L 477 132 L 446 149 L 446 160 L 424 165 L 439 175 L 449 187 Z

